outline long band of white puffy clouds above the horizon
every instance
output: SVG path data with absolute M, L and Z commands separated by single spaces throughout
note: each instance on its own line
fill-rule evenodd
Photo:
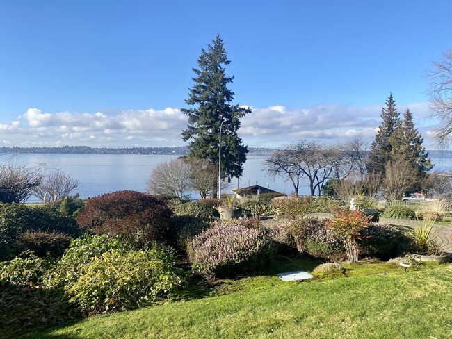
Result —
M 426 103 L 407 105 L 414 123 L 428 142 L 432 122 L 423 117 Z M 402 114 L 406 107 L 398 106 Z M 252 108 L 242 119 L 239 135 L 250 147 L 280 147 L 291 141 L 315 138 L 327 143 L 362 136 L 373 140 L 381 106 L 323 104 L 309 108 L 281 105 Z M 29 108 L 13 122 L 0 124 L 0 145 L 21 147 L 157 147 L 180 146 L 187 117 L 178 108 L 127 110 L 107 113 L 45 113 Z M 427 143 L 426 143 L 427 145 Z M 428 146 L 428 145 L 427 145 Z

